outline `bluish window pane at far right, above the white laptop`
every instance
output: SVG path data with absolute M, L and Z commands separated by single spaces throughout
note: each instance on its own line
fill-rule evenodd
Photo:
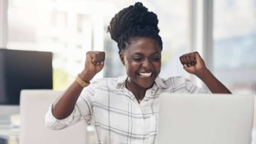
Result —
M 233 93 L 256 93 L 256 1 L 214 1 L 214 74 Z

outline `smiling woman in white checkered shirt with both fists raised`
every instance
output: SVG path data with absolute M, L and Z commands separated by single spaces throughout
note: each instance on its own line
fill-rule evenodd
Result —
M 105 53 L 86 54 L 83 71 L 49 109 L 51 129 L 63 129 L 79 120 L 92 120 L 97 143 L 154 143 L 159 95 L 164 92 L 209 93 L 184 77 L 158 77 L 163 43 L 157 15 L 142 3 L 118 12 L 108 32 L 118 43 L 126 77 L 97 79 Z M 230 93 L 205 67 L 198 52 L 180 56 L 184 69 L 202 79 L 212 93 Z

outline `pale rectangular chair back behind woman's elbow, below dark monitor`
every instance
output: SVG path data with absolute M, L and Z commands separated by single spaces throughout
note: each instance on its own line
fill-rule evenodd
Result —
M 20 93 L 20 144 L 85 144 L 86 122 L 53 131 L 45 126 L 45 113 L 61 92 L 22 90 Z

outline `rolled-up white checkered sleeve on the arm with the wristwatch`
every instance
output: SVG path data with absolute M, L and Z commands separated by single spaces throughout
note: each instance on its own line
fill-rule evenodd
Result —
M 93 85 L 93 84 L 92 84 Z M 83 92 L 77 99 L 76 105 L 72 113 L 62 120 L 55 118 L 52 115 L 52 104 L 45 115 L 45 125 L 49 129 L 59 130 L 68 127 L 69 125 L 76 124 L 81 120 L 91 120 L 92 118 L 92 96 L 93 86 L 84 88 Z

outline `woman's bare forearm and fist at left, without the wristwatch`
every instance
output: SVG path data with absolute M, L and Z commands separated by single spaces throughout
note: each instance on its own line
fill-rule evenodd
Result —
M 83 81 L 90 81 L 104 67 L 105 52 L 88 51 L 84 70 L 79 75 Z M 83 90 L 83 86 L 74 81 L 52 106 L 52 115 L 57 119 L 67 118 L 76 106 L 77 99 Z

